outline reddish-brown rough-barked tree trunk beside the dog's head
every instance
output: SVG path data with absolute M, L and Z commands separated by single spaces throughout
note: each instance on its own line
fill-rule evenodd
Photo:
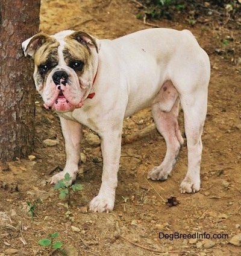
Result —
M 21 43 L 39 31 L 40 0 L 0 0 L 0 161 L 30 154 L 34 140 L 33 65 Z

